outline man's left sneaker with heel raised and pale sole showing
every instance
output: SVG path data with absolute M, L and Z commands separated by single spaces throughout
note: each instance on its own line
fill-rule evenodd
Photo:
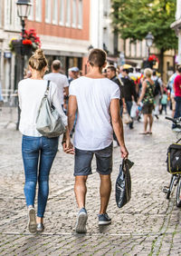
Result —
M 86 222 L 88 219 L 88 214 L 85 208 L 81 208 L 80 212 L 78 213 L 77 223 L 75 226 L 75 231 L 77 233 L 86 233 Z

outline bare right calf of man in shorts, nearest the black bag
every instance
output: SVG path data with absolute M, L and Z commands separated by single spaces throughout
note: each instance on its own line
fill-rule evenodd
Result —
M 100 214 L 106 213 L 110 201 L 111 180 L 110 175 L 100 174 Z

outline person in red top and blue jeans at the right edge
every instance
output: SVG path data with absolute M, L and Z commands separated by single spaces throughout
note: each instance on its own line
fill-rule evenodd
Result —
M 176 111 L 174 118 L 181 116 L 181 66 L 177 69 L 177 75 L 174 80 L 174 91 L 175 91 L 175 101 L 176 101 Z M 172 129 L 177 132 L 176 124 L 173 124 Z

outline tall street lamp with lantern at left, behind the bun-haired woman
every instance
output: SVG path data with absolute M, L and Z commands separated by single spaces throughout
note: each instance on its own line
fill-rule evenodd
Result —
M 17 55 L 17 58 L 19 58 L 19 64 L 18 66 L 20 66 L 20 70 L 19 70 L 19 81 L 24 79 L 24 53 L 23 53 L 23 40 L 24 40 L 24 32 L 25 32 L 25 19 L 28 17 L 29 13 L 30 13 L 30 8 L 31 8 L 31 0 L 17 0 L 16 2 L 17 5 L 17 15 L 20 17 L 21 19 L 21 25 L 22 25 L 22 39 L 21 39 L 21 54 Z M 16 130 L 18 130 L 19 128 L 19 122 L 20 122 L 20 108 L 19 108 L 19 104 L 18 104 L 18 119 L 17 119 L 17 123 L 16 123 Z

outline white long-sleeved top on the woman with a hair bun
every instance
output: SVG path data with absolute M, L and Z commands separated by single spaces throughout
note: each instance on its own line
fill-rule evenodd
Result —
M 26 136 L 43 136 L 36 130 L 36 117 L 46 88 L 47 81 L 45 80 L 27 78 L 20 81 L 18 84 L 19 106 L 21 109 L 19 130 Z M 48 99 L 61 114 L 62 122 L 67 125 L 67 116 L 62 111 L 60 94 L 61 92 L 57 85 L 51 82 Z

